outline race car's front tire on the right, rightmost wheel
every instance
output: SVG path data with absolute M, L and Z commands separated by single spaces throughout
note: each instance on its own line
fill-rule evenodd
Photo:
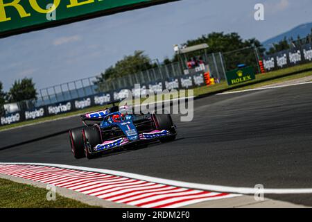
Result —
M 157 130 L 168 130 L 169 132 L 175 134 L 175 132 L 173 132 L 174 125 L 171 119 L 171 114 L 155 114 L 154 117 Z M 177 137 L 176 134 L 159 139 L 159 141 L 162 143 L 171 142 L 175 140 L 175 137 Z

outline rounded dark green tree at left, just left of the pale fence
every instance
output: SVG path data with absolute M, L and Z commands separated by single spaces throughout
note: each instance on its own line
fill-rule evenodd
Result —
M 23 78 L 15 80 L 8 92 L 8 102 L 15 103 L 28 99 L 37 99 L 37 90 L 32 78 Z

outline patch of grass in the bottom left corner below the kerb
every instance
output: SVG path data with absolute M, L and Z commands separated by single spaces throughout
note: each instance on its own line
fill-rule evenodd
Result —
M 91 208 L 77 200 L 56 195 L 46 200 L 48 190 L 0 179 L 0 208 Z

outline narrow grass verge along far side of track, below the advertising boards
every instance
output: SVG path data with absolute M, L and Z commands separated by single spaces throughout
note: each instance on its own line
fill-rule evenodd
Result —
M 227 85 L 226 81 L 221 81 L 221 83 L 216 84 L 216 85 L 211 85 L 209 87 L 207 87 L 207 86 L 198 87 L 198 88 L 194 89 L 194 96 L 200 96 L 202 94 L 220 92 L 220 90 L 232 91 L 232 90 L 242 90 L 242 89 L 253 89 L 255 87 L 261 87 L 261 86 L 270 85 L 273 83 L 284 82 L 286 80 L 291 80 L 291 79 L 295 79 L 295 78 L 302 78 L 305 76 L 311 76 L 311 71 L 310 71 L 310 72 L 304 72 L 301 74 L 294 74 L 291 76 L 278 78 L 279 76 L 284 76 L 287 74 L 291 74 L 293 72 L 304 71 L 306 69 L 312 69 L 312 62 L 305 64 L 305 65 L 298 65 L 298 66 L 290 67 L 290 68 L 286 68 L 286 69 L 279 69 L 277 71 L 270 71 L 266 74 L 258 74 L 256 77 L 256 80 L 252 80 L 252 81 L 249 81 L 247 83 L 241 83 L 239 85 L 233 85 L 230 87 Z M 270 80 L 270 78 L 278 78 L 278 79 Z M 263 81 L 265 81 L 265 82 L 263 82 Z M 261 82 L 261 83 L 258 83 L 258 82 Z M 253 85 L 250 85 L 250 84 L 253 84 Z M 232 89 L 234 87 L 239 87 L 239 89 Z M 144 100 L 145 99 L 141 99 L 141 101 L 144 101 Z M 68 112 L 68 113 L 59 114 L 59 115 L 55 115 L 55 116 L 51 116 L 51 117 L 44 117 L 44 118 L 24 121 L 24 122 L 20 122 L 20 123 L 13 123 L 11 125 L 0 126 L 0 131 L 1 130 L 7 130 L 9 128 L 19 127 L 19 126 L 25 126 L 25 125 L 33 124 L 33 123 L 40 123 L 42 121 L 50 121 L 50 120 L 59 119 L 59 118 L 63 118 L 63 117 L 69 117 L 69 116 L 73 116 L 73 115 L 83 114 L 85 112 L 93 112 L 93 111 L 101 110 L 103 108 L 110 107 L 110 106 L 111 105 L 96 106 L 96 107 L 92 107 L 92 108 L 87 108 L 85 110 Z

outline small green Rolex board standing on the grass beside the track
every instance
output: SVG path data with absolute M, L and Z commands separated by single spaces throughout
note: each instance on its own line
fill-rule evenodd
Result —
M 254 74 L 254 69 L 252 67 L 245 67 L 242 69 L 227 71 L 226 75 L 227 85 L 236 85 L 256 79 L 256 75 Z

